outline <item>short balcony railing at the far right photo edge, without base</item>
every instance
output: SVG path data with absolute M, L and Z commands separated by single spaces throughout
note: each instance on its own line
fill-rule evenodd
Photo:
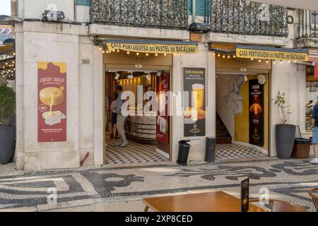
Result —
M 299 11 L 298 38 L 318 37 L 318 12 Z

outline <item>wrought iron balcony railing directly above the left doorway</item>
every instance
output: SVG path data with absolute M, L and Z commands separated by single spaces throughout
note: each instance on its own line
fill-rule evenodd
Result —
M 187 0 L 91 0 L 90 21 L 112 25 L 185 29 Z

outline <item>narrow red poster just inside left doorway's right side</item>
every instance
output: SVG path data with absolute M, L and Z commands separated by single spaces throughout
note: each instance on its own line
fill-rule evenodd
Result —
M 158 117 L 157 141 L 169 143 L 169 116 L 166 93 L 169 91 L 169 73 L 162 73 L 157 79 Z

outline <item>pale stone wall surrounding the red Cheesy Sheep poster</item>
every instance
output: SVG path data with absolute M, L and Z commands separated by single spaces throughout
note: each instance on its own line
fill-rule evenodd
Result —
M 102 53 L 89 40 L 88 27 L 54 23 L 24 22 L 16 26 L 17 148 L 18 169 L 78 167 L 90 152 L 93 165 L 96 90 L 102 98 Z M 81 64 L 90 59 L 89 65 Z M 67 64 L 67 141 L 37 143 L 37 62 Z M 97 62 L 98 65 L 93 64 Z M 98 73 L 95 76 L 95 73 Z M 94 89 L 93 85 L 98 88 Z M 101 88 L 100 88 L 101 87 Z M 100 114 L 98 124 L 102 124 Z M 102 135 L 100 135 L 102 136 Z M 98 137 L 98 136 L 97 136 Z M 98 145 L 102 147 L 102 143 Z M 102 148 L 99 158 L 102 159 Z

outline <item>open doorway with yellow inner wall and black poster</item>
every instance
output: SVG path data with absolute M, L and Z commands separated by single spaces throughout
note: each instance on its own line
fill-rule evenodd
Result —
M 219 160 L 268 155 L 269 84 L 269 73 L 217 73 Z

